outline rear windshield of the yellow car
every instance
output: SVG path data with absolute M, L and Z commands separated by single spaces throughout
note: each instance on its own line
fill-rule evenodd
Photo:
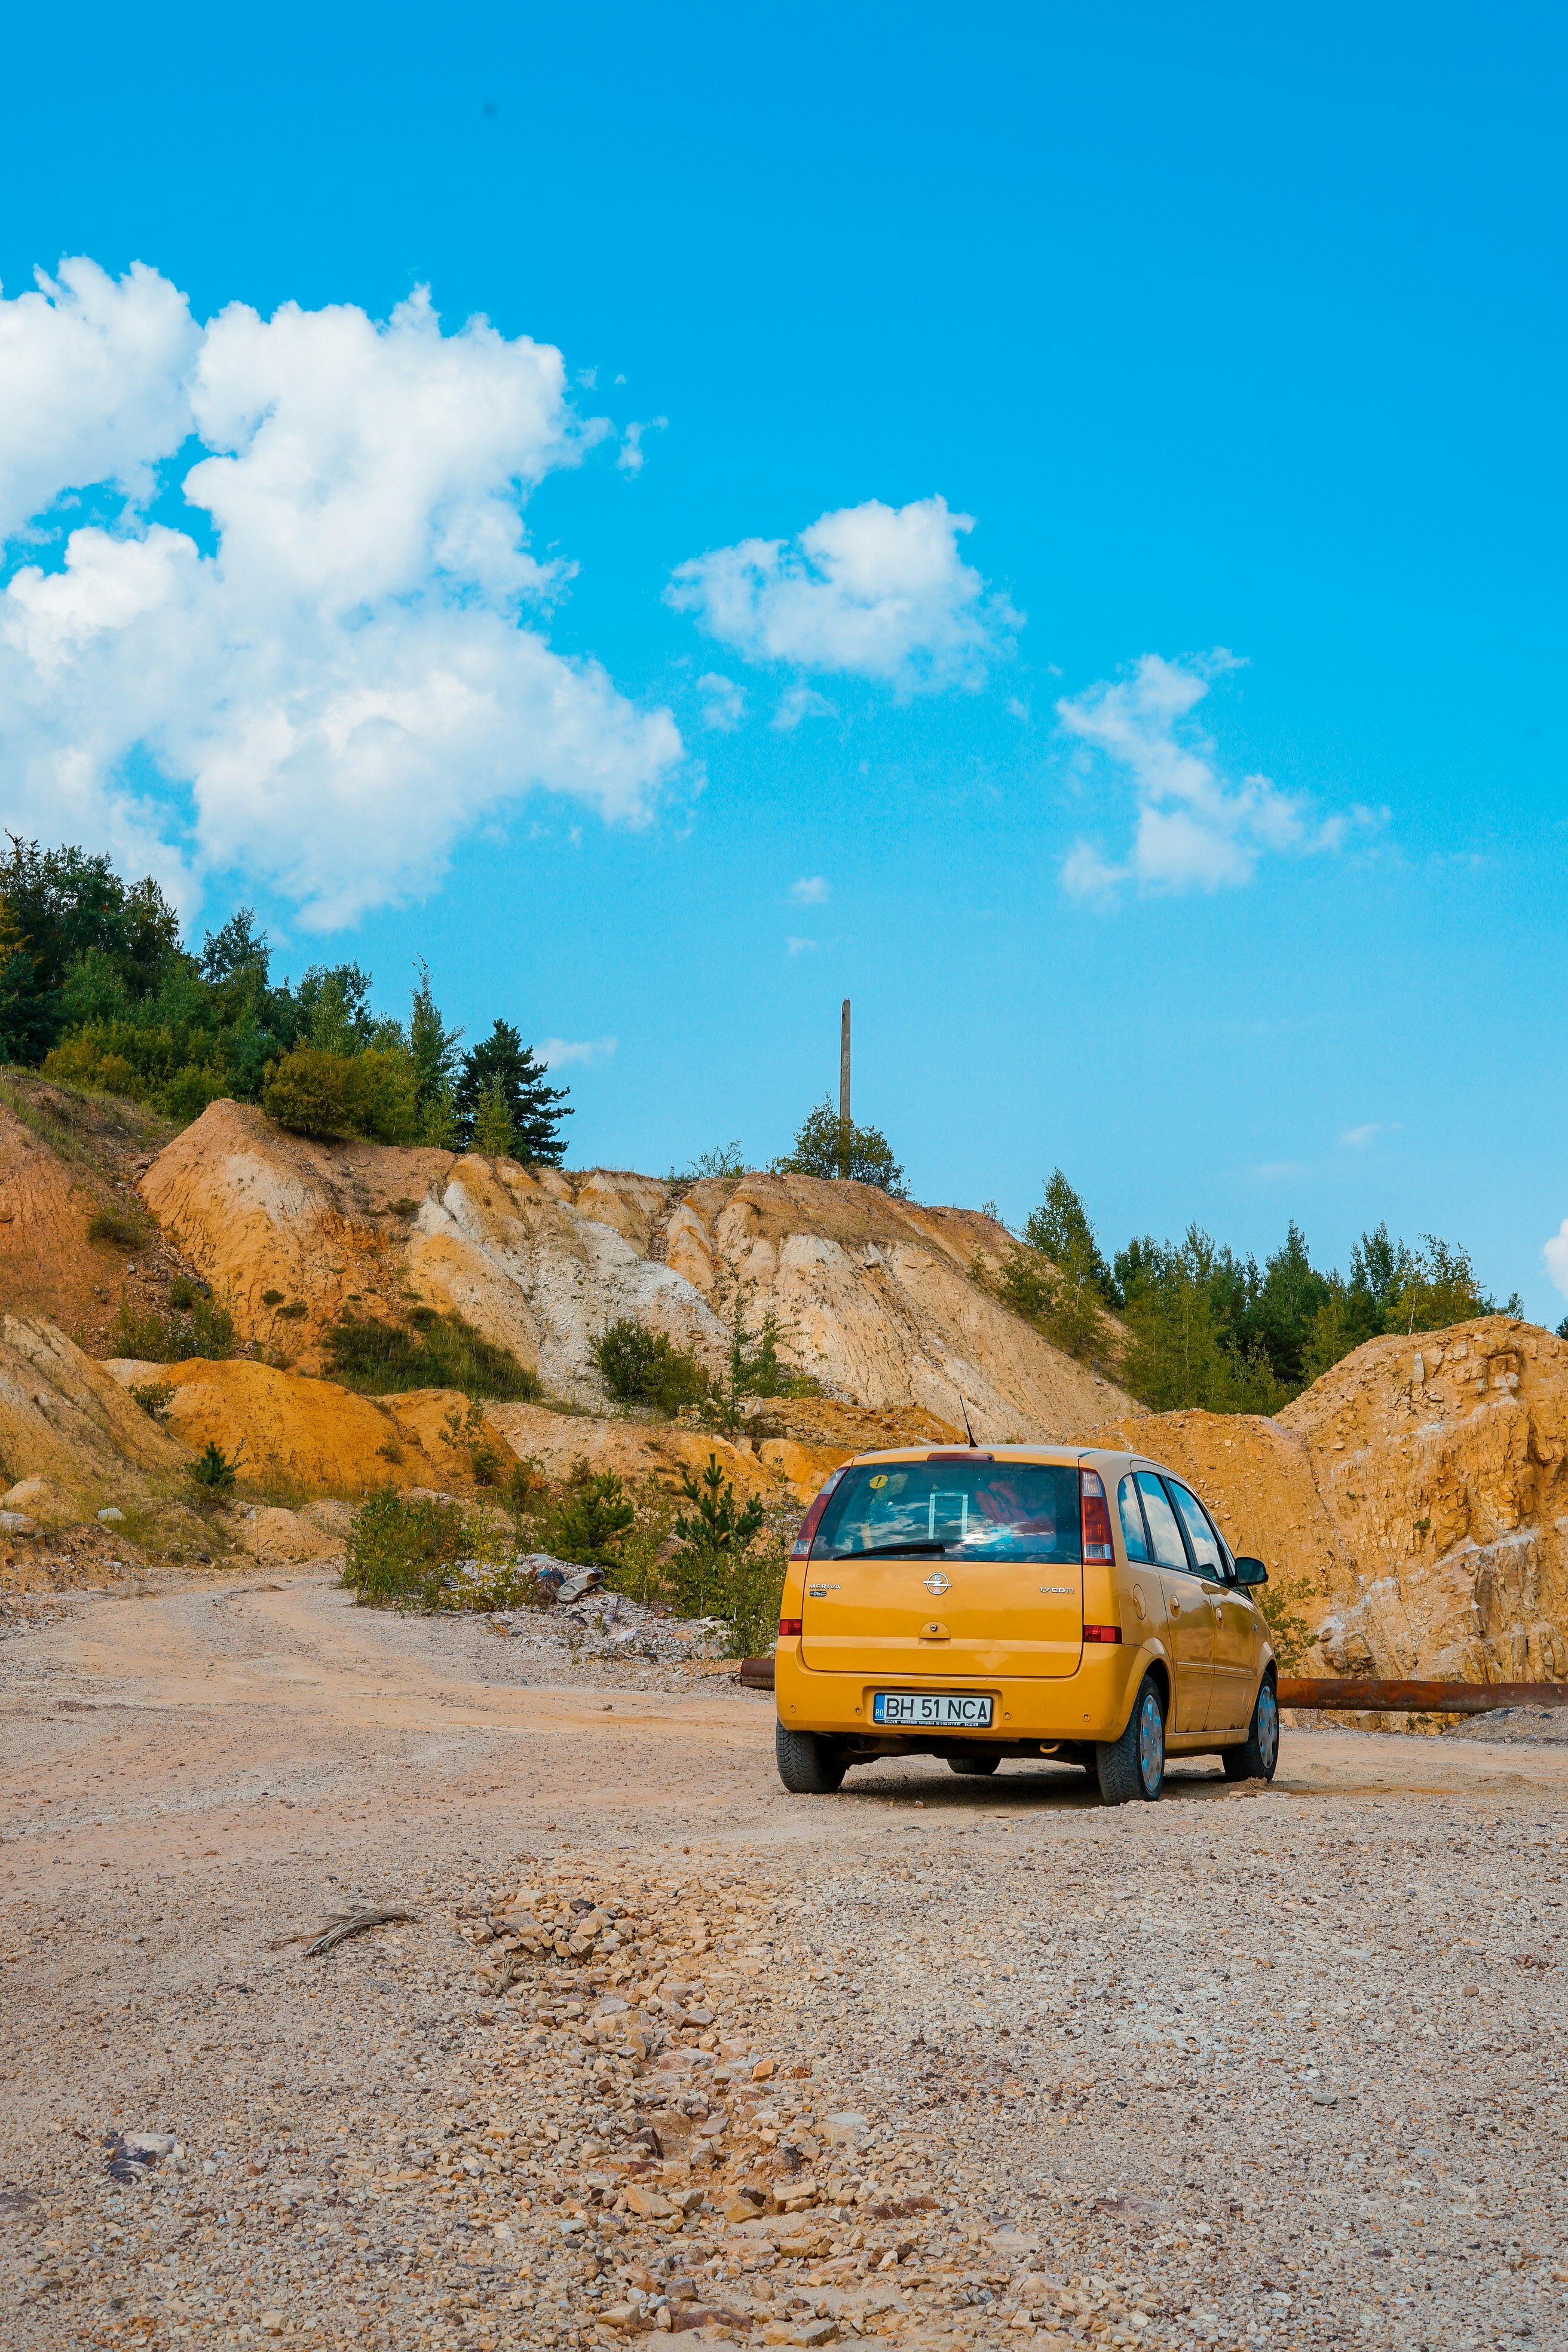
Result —
M 1072 1463 L 863 1463 L 839 1479 L 811 1557 L 1081 1559 L 1081 1541 Z

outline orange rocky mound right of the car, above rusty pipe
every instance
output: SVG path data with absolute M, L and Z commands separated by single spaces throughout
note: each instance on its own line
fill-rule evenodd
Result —
M 1568 1679 L 1568 1345 L 1486 1315 L 1375 1338 L 1276 1421 L 1114 1421 L 1309 1592 L 1309 1672 Z

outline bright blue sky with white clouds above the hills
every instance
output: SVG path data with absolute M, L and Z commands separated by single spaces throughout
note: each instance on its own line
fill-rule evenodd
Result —
M 1559 1319 L 1561 16 L 66 7 L 9 59 L 12 823 L 581 1047 L 574 1162 L 785 1148 L 851 995 L 924 1200 L 1060 1162 L 1107 1244 L 1338 1263 L 1387 1216 Z M 61 256 L 169 301 L 16 306 Z M 494 341 L 310 327 L 418 287 Z M 49 358 L 94 303 L 110 390 Z M 339 367 L 390 475 L 284 595 Z M 444 499 L 463 548 L 383 562 L 437 456 L 409 546 Z

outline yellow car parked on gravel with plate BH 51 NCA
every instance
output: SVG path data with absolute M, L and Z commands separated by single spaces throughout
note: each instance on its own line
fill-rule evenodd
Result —
M 1276 1668 L 1237 1559 L 1175 1472 L 1084 1446 L 860 1454 L 806 1512 L 785 1576 L 778 1776 L 936 1755 L 1048 1757 L 1105 1804 L 1159 1797 L 1168 1755 L 1272 1780 Z

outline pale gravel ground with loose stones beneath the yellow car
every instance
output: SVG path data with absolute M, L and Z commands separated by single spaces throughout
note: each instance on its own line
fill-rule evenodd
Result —
M 766 1698 L 320 1571 L 12 1630 L 7 2345 L 1568 2343 L 1528 1724 L 809 1799 Z

